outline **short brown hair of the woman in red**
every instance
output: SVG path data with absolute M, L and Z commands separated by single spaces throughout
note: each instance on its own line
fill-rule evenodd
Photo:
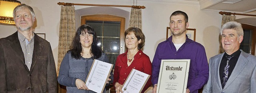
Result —
M 145 35 L 141 31 L 141 29 L 139 29 L 137 27 L 130 27 L 124 32 L 124 37 L 126 37 L 126 35 L 130 35 L 132 33 L 134 33 L 134 35 L 138 41 L 141 39 L 140 43 L 138 44 L 138 49 L 140 50 L 145 45 Z

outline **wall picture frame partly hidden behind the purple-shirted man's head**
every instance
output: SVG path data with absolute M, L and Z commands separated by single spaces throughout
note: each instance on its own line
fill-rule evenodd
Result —
M 170 27 L 166 27 L 166 40 L 172 35 Z M 187 28 L 186 35 L 188 38 L 196 41 L 196 29 Z

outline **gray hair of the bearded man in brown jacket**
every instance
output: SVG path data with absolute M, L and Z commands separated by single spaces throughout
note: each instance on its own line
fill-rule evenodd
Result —
M 20 11 L 21 8 L 28 8 L 28 9 L 30 10 L 30 13 L 31 13 L 31 15 L 32 15 L 32 17 L 33 17 L 33 20 L 34 20 L 34 18 L 35 18 L 35 12 L 34 12 L 33 8 L 30 7 L 30 6 L 28 6 L 28 5 L 26 5 L 26 4 L 20 4 L 20 5 L 16 6 L 16 7 L 14 8 L 14 10 L 13 10 L 12 15 L 13 15 L 14 21 L 15 21 L 15 13 L 16 13 L 17 11 Z

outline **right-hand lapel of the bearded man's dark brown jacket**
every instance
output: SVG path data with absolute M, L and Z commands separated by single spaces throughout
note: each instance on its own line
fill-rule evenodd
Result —
M 44 45 L 42 44 L 42 40 L 39 38 L 38 35 L 36 35 L 34 33 L 34 50 L 33 50 L 33 57 L 32 57 L 32 64 L 31 64 L 31 68 L 30 68 L 30 72 L 33 70 L 38 57 L 40 56 L 40 53 L 42 51 L 42 48 L 44 47 Z

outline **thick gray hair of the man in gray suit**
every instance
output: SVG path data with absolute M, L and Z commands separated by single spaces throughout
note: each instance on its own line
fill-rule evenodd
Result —
M 238 23 L 236 21 L 230 21 L 230 22 L 227 22 L 224 25 L 222 25 L 221 30 L 220 30 L 220 35 L 222 35 L 222 32 L 225 29 L 234 29 L 237 32 L 238 37 L 241 35 L 244 35 L 244 30 L 242 28 L 241 23 Z

